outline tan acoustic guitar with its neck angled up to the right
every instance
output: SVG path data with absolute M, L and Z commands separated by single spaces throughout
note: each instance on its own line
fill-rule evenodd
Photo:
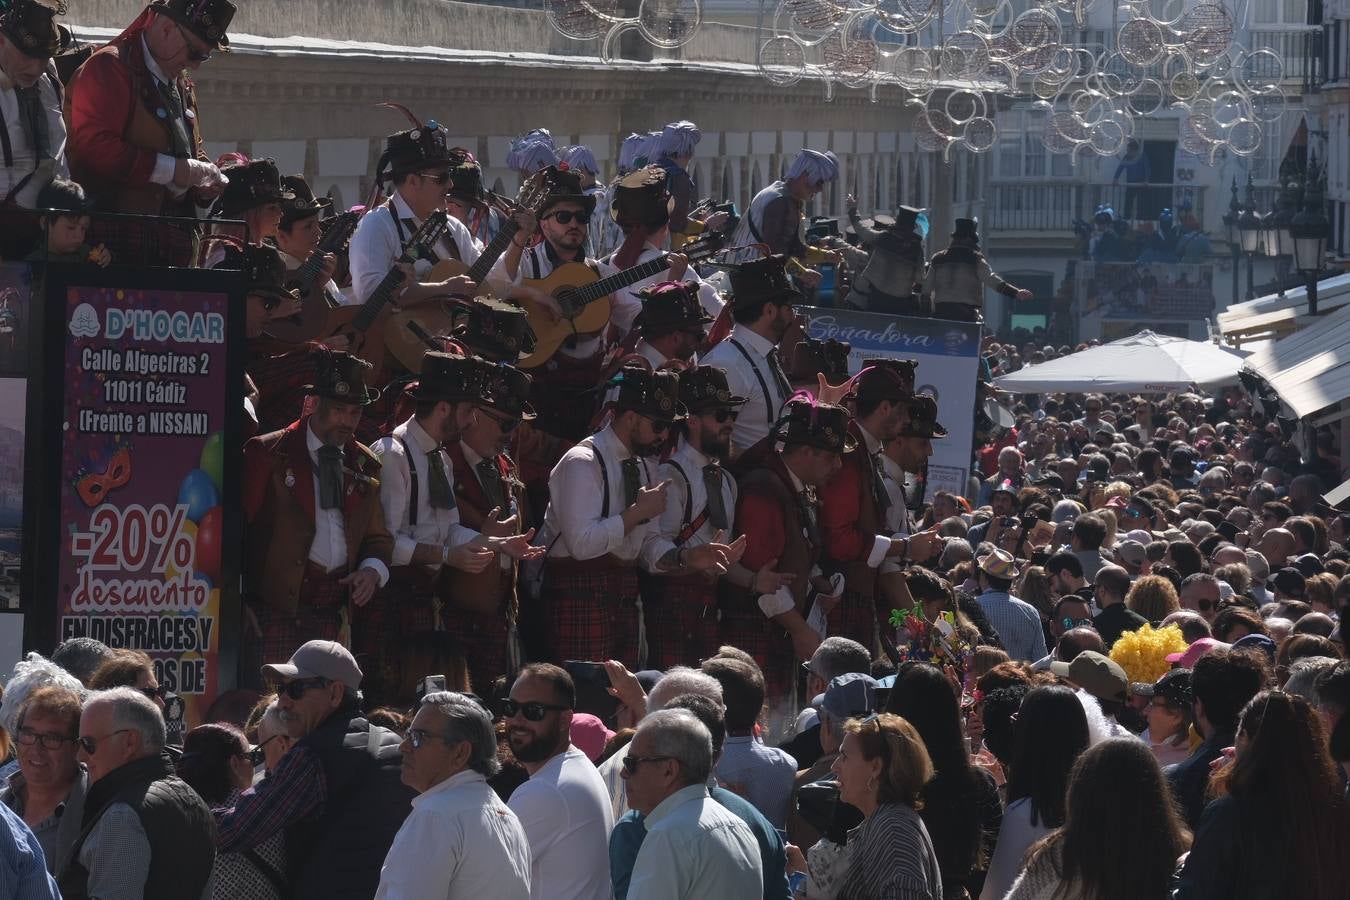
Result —
M 703 232 L 680 248 L 690 264 L 709 259 L 721 251 L 725 243 L 721 232 Z M 547 278 L 526 278 L 524 285 L 541 290 L 558 301 L 563 317 L 556 322 L 532 300 L 512 301 L 525 309 L 529 327 L 535 329 L 535 352 L 521 358 L 518 368 L 533 368 L 547 363 L 563 341 L 572 335 L 598 332 L 609 325 L 609 296 L 644 278 L 651 278 L 670 269 L 670 254 L 662 254 L 632 269 L 601 278 L 585 263 L 566 263 L 555 269 Z

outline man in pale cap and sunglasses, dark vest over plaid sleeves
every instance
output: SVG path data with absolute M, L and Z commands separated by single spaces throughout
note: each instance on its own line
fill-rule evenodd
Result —
M 262 676 L 294 746 L 234 807 L 215 810 L 217 850 L 242 853 L 284 831 L 292 896 L 374 896 L 413 797 L 401 738 L 360 714 L 360 667 L 342 644 L 309 641 Z

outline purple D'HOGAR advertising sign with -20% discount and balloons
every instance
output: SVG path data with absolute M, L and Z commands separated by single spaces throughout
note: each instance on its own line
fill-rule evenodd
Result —
M 221 680 L 220 657 L 221 594 L 238 580 L 236 555 L 223 557 L 227 498 L 238 494 L 225 441 L 239 403 L 230 294 L 58 285 L 46 302 L 62 310 L 65 332 L 50 445 L 55 641 L 146 652 L 159 684 L 182 698 L 182 716 L 201 721 L 234 681 Z

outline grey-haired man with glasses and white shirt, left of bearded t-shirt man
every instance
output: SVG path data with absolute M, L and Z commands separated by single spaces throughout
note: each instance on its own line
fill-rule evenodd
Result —
M 487 787 L 501 768 L 487 710 L 463 694 L 428 694 L 398 749 L 404 784 L 418 796 L 375 900 L 528 900 L 525 830 Z

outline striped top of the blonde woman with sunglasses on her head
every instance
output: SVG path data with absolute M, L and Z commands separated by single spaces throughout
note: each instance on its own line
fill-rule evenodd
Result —
M 849 831 L 852 847 L 838 900 L 942 900 L 942 874 L 919 814 L 883 803 Z

